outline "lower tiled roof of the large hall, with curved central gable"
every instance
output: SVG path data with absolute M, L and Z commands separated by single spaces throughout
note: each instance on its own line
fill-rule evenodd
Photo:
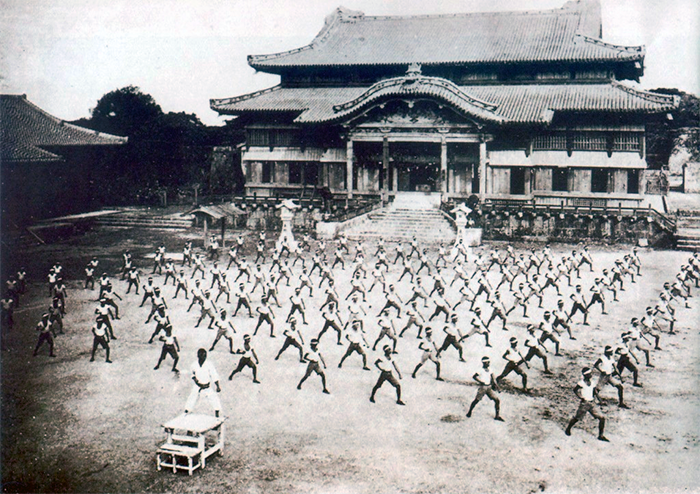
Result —
M 405 78 L 397 78 L 405 79 Z M 639 91 L 619 82 L 609 84 L 537 84 L 537 85 L 474 85 L 454 86 L 453 91 L 441 91 L 437 84 L 416 96 L 429 96 L 450 103 L 464 113 L 494 123 L 534 123 L 551 121 L 557 111 L 640 112 L 660 113 L 678 107 L 675 96 Z M 353 112 L 361 111 L 380 97 L 391 98 L 395 93 L 378 87 L 343 88 L 283 88 L 275 86 L 264 91 L 221 100 L 211 100 L 211 108 L 225 115 L 250 112 L 298 112 L 295 122 L 323 123 L 341 121 Z M 376 97 L 375 97 L 376 96 Z M 405 97 L 405 96 L 404 96 Z M 473 104 L 467 104 L 471 101 Z M 476 109 L 479 109 L 477 113 Z

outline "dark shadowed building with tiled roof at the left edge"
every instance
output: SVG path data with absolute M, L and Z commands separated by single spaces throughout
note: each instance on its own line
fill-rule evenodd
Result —
M 68 123 L 25 95 L 0 95 L 3 220 L 24 223 L 83 210 L 106 159 L 127 142 Z

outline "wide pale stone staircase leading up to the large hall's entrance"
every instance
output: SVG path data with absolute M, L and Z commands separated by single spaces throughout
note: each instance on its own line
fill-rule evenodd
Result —
M 409 241 L 415 235 L 421 243 L 452 243 L 456 237 L 454 223 L 436 207 L 435 201 L 435 197 L 426 194 L 402 195 L 392 205 L 358 218 L 344 231 L 354 240 L 381 237 Z

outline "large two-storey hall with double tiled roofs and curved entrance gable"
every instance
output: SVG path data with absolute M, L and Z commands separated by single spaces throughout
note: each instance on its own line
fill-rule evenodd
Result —
M 646 124 L 679 101 L 636 89 L 644 47 L 602 35 L 600 0 L 424 16 L 339 7 L 309 44 L 248 57 L 279 85 L 211 108 L 246 127 L 251 194 L 634 205 Z

